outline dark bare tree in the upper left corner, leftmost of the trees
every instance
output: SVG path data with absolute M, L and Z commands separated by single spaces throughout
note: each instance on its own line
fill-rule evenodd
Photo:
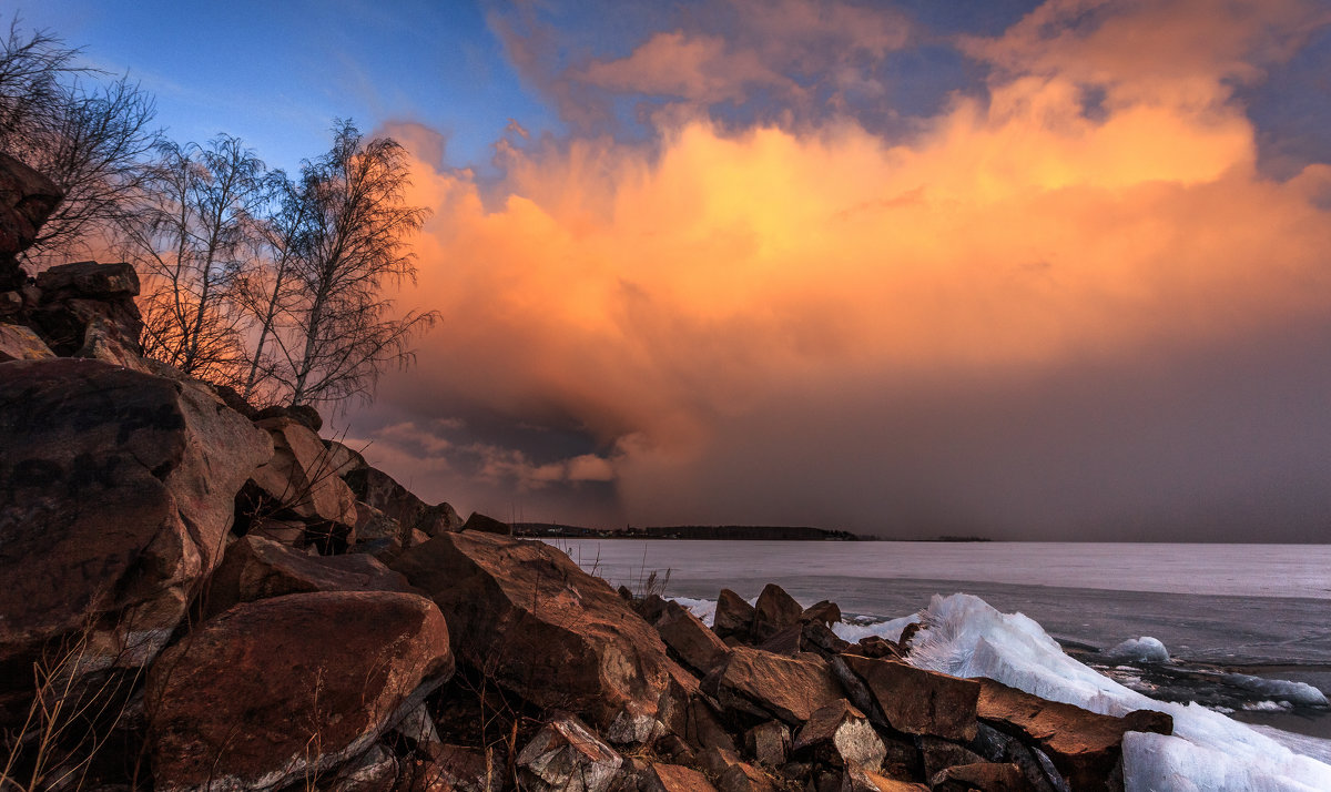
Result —
M 133 214 L 146 156 L 160 141 L 150 96 L 128 77 L 76 65 L 79 49 L 15 17 L 0 51 L 0 150 L 65 190 L 28 249 L 29 261 L 67 256 L 108 237 Z

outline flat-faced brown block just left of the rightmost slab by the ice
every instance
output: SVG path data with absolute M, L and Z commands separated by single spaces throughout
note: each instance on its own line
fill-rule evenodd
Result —
M 892 660 L 843 659 L 868 686 L 892 728 L 957 741 L 974 739 L 980 683 Z

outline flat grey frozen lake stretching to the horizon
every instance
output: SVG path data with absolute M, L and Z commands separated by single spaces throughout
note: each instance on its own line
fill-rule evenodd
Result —
M 631 590 L 669 570 L 668 595 L 745 598 L 779 583 L 811 604 L 894 618 L 934 594 L 1021 611 L 1061 640 L 1105 648 L 1151 635 L 1179 658 L 1331 666 L 1331 546 L 555 539 Z

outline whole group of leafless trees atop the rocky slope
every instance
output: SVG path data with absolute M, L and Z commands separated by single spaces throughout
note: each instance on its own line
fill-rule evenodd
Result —
M 289 176 L 229 134 L 168 140 L 148 93 L 79 55 L 17 19 L 0 52 L 0 150 L 67 190 L 29 268 L 91 240 L 116 250 L 144 284 L 145 355 L 258 405 L 369 398 L 413 361 L 438 314 L 397 315 L 385 296 L 414 280 L 406 240 L 426 218 L 406 204 L 399 144 L 335 121 L 329 150 Z

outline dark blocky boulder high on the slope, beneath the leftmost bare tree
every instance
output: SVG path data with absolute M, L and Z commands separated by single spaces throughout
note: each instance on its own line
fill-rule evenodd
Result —
M 132 366 L 142 353 L 138 274 L 128 264 L 79 261 L 37 276 L 41 302 L 29 322 L 61 357 Z

